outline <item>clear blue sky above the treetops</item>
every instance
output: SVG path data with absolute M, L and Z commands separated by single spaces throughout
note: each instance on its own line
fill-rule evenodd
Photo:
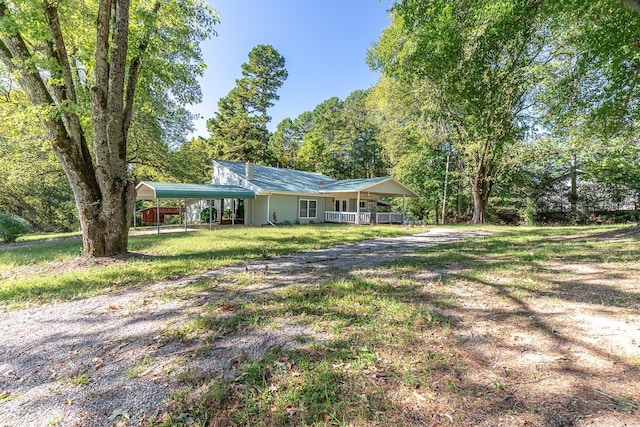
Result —
M 203 102 L 189 109 L 202 116 L 194 136 L 208 136 L 205 122 L 241 76 L 241 64 L 258 44 L 284 56 L 288 79 L 269 111 L 271 130 L 332 96 L 344 99 L 378 79 L 367 49 L 390 23 L 390 0 L 209 0 L 220 13 L 217 37 L 202 45 L 207 71 Z

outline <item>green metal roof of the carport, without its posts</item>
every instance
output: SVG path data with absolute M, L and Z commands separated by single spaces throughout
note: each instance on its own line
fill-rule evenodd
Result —
M 237 185 L 174 184 L 143 181 L 136 186 L 138 199 L 255 199 L 253 191 Z

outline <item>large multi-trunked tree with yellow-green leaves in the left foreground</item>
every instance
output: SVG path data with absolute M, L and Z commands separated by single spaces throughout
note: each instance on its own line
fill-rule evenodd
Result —
M 127 251 L 136 106 L 198 97 L 198 43 L 214 21 L 201 0 L 133 7 L 131 0 L 0 0 L 0 60 L 26 92 L 66 174 L 85 255 Z

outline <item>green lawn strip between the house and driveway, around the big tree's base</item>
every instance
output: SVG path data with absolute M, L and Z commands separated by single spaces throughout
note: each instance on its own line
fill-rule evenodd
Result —
M 33 243 L 0 246 L 0 308 L 86 297 L 254 259 L 417 231 L 315 225 L 152 234 L 131 236 L 129 256 L 95 260 L 79 258 L 82 243 L 76 239 L 24 237 L 22 241 Z

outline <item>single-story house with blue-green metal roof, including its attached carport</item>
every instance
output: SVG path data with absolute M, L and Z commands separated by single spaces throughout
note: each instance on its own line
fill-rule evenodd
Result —
M 143 181 L 136 190 L 138 200 L 156 201 L 158 212 L 161 199 L 184 201 L 185 227 L 187 221 L 200 222 L 206 209 L 213 211 L 207 215 L 210 224 L 213 218 L 248 225 L 402 223 L 404 198 L 418 196 L 390 177 L 336 180 L 316 172 L 225 160 L 213 161 L 212 184 Z M 402 212 L 388 212 L 383 197 L 402 197 Z

